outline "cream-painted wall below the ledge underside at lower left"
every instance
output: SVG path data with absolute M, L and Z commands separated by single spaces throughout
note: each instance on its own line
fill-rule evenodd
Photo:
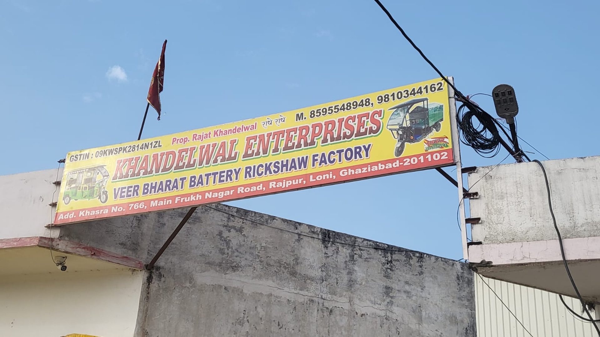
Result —
M 0 278 L 0 336 L 131 337 L 143 272 L 56 272 Z

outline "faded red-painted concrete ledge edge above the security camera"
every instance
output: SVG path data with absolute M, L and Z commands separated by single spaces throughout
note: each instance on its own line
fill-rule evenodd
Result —
M 44 236 L 14 237 L 12 239 L 0 239 L 0 249 L 24 248 L 29 246 L 39 246 L 49 248 L 59 252 L 80 255 L 83 257 L 94 258 L 96 260 L 107 261 L 110 263 L 121 264 L 133 269 L 144 269 L 142 261 L 131 257 L 121 256 L 104 249 L 94 248 L 83 245 L 79 242 L 62 239 L 52 239 Z

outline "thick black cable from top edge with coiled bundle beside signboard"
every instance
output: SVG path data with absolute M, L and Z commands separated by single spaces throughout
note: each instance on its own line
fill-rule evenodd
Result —
M 489 113 L 485 112 L 485 110 L 481 109 L 479 106 L 477 106 L 476 104 L 473 104 L 469 98 L 467 98 L 466 96 L 464 96 L 460 91 L 458 91 L 458 89 L 454 86 L 454 84 L 452 84 L 448 79 L 446 79 L 446 77 L 442 74 L 442 72 L 436 67 L 436 65 L 433 64 L 433 62 L 431 62 L 427 56 L 425 56 L 425 54 L 422 52 L 421 49 L 419 49 L 419 47 L 416 46 L 416 44 L 410 39 L 410 37 L 406 34 L 406 32 L 404 32 L 404 29 L 402 29 L 402 27 L 400 25 L 398 25 L 398 22 L 396 22 L 396 20 L 394 19 L 394 17 L 392 17 L 392 14 L 389 13 L 388 9 L 385 8 L 385 6 L 379 1 L 379 0 L 374 0 L 377 5 L 379 5 L 379 7 L 383 10 L 383 12 L 388 16 L 389 20 L 391 20 L 392 23 L 394 23 L 394 26 L 396 26 L 396 28 L 398 29 L 398 31 L 400 31 L 400 33 L 403 35 L 403 37 L 409 41 L 410 45 L 419 53 L 419 55 L 421 55 L 421 57 L 425 60 L 425 62 L 427 62 L 431 68 L 433 68 L 433 70 L 436 71 L 437 74 L 439 74 L 440 77 L 442 77 L 442 79 L 448 83 L 448 85 L 454 89 L 454 93 L 455 95 L 458 96 L 458 98 L 460 98 L 460 101 L 463 102 L 463 104 L 465 106 L 467 106 L 469 108 L 469 110 L 472 111 L 472 117 L 474 116 L 476 119 L 479 120 L 479 122 L 488 129 L 488 131 L 490 131 L 491 133 L 491 137 L 490 139 L 484 140 L 482 137 L 475 137 L 477 139 L 477 142 L 474 143 L 474 145 L 469 145 L 471 146 L 473 149 L 475 149 L 475 151 L 477 151 L 479 154 L 490 154 L 490 153 L 494 153 L 494 155 L 497 154 L 497 152 L 499 151 L 497 149 L 498 145 L 502 145 L 506 151 L 509 152 L 509 154 L 512 155 L 512 157 L 515 158 L 515 160 L 517 161 L 521 161 L 520 156 L 517 155 L 517 153 L 511 148 L 511 146 L 508 145 L 508 143 L 505 142 L 505 140 L 503 140 L 500 137 L 500 134 L 498 133 L 498 130 L 496 128 L 496 126 L 494 125 L 494 123 L 497 123 L 497 121 L 495 119 L 493 119 Z M 457 113 L 458 114 L 458 113 Z M 458 119 L 458 118 L 457 118 Z M 471 118 L 469 119 L 464 119 L 464 121 L 469 121 L 471 122 Z M 464 125 L 464 124 L 463 124 Z M 463 131 L 460 128 L 459 125 L 459 130 Z M 473 128 L 470 128 L 470 130 L 472 131 Z M 501 129 L 503 132 L 504 130 Z M 464 132 L 464 131 L 463 131 Z M 480 136 L 481 134 L 484 134 L 482 132 L 479 132 Z M 485 133 L 487 134 L 487 133 Z M 505 133 L 506 134 L 506 133 Z M 473 135 L 471 135 L 473 136 Z M 508 134 L 506 135 L 508 137 Z M 489 137 L 489 136 L 488 136 Z M 470 136 L 467 136 L 467 139 L 469 139 Z M 493 140 L 491 138 L 494 138 Z M 510 139 L 510 137 L 508 137 Z M 481 145 L 483 146 L 483 148 L 478 148 L 478 146 Z M 495 148 L 491 148 L 490 146 L 495 145 Z M 483 156 L 485 157 L 485 156 Z M 492 156 L 493 157 L 493 156 Z M 524 156 L 526 157 L 526 156 Z

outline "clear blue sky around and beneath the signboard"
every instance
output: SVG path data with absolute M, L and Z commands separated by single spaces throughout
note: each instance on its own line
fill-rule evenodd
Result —
M 514 86 L 519 134 L 545 155 L 598 155 L 600 2 L 383 3 L 463 94 Z M 370 0 L 2 0 L 0 36 L 0 174 L 135 140 L 164 39 L 164 115 L 149 113 L 143 137 L 437 77 Z M 489 98 L 476 101 L 494 114 Z M 506 155 L 461 151 L 463 166 Z M 433 170 L 230 204 L 462 257 L 457 191 Z

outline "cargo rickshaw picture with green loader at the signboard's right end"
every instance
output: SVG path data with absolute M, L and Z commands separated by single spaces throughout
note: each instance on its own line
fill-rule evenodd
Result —
M 406 143 L 418 143 L 429 136 L 433 130 L 440 131 L 444 119 L 444 106 L 440 103 L 429 103 L 427 98 L 415 98 L 388 111 L 394 111 L 388 119 L 388 130 L 398 140 L 394 155 L 400 157 Z

